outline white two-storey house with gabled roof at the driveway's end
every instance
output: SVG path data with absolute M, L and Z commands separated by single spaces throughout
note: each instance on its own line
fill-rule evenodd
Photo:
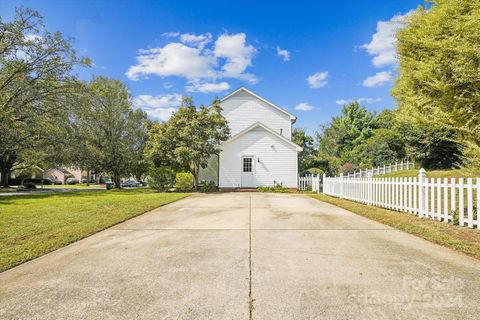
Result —
M 296 117 L 246 88 L 228 94 L 220 105 L 230 139 L 200 170 L 199 180 L 214 181 L 220 189 L 297 188 L 302 148 L 291 141 Z

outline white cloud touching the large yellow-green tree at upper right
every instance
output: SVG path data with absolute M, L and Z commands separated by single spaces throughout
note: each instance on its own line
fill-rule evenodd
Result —
M 370 43 L 361 48 L 367 50 L 368 54 L 374 56 L 372 64 L 379 68 L 397 63 L 395 33 L 405 24 L 405 18 L 414 11 L 404 15 L 395 15 L 388 21 L 378 21 L 377 30 L 372 36 Z

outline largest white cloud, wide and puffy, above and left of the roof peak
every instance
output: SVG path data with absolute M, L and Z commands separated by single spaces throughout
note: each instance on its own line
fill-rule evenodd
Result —
M 255 75 L 245 72 L 252 65 L 256 49 L 246 43 L 244 33 L 223 34 L 214 43 L 210 33 L 173 32 L 164 36 L 178 40 L 163 47 L 139 50 L 137 63 L 125 73 L 129 79 L 174 76 L 185 78 L 192 86 L 200 81 L 215 82 L 222 78 L 257 81 Z

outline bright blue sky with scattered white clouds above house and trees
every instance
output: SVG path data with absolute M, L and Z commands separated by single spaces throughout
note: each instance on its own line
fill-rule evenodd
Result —
M 246 86 L 297 115 L 313 133 L 351 99 L 392 108 L 392 30 L 422 0 L 2 1 L 24 5 L 47 29 L 73 37 L 104 75 L 131 89 L 136 107 L 165 119 L 181 95 L 209 104 Z

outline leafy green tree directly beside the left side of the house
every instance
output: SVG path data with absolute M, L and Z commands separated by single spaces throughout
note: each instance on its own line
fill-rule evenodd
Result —
M 221 114 L 220 102 L 209 108 L 197 108 L 189 97 L 164 123 L 155 123 L 148 130 L 146 154 L 157 167 L 173 167 L 193 175 L 198 187 L 200 168 L 206 168 L 211 156 L 230 135 L 227 120 Z

